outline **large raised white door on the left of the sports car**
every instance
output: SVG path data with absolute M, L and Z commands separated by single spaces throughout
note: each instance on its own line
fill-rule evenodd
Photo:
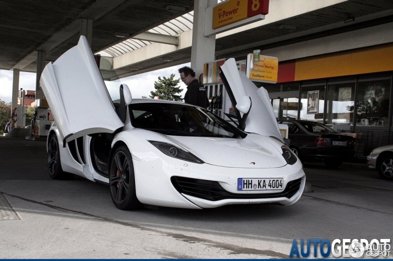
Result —
M 60 132 L 69 140 L 123 127 L 84 36 L 42 72 L 40 84 Z

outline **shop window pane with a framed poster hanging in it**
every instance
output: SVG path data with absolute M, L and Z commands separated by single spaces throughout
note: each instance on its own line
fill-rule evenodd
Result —
M 301 88 L 300 120 L 323 122 L 325 85 Z

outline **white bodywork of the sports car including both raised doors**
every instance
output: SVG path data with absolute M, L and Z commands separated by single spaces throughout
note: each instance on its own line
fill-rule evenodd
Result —
M 214 137 L 191 136 L 189 133 L 186 133 L 189 136 L 165 135 L 134 127 L 130 120 L 129 108 L 138 103 L 149 103 L 149 105 L 156 103 L 184 105 L 184 103 L 132 99 L 131 93 L 127 91 L 124 93 L 124 98 L 126 103 L 131 104 L 127 106 L 127 117 L 123 123 L 105 89 L 105 83 L 88 49 L 86 39 L 81 36 L 77 47 L 63 54 L 53 65 L 48 64 L 41 78 L 44 93 L 56 121 L 48 137 L 53 134 L 57 136 L 62 169 L 92 181 L 109 183 L 108 174 L 105 174 L 105 171 L 100 169 L 101 167 L 96 166 L 95 151 L 92 148 L 93 145 L 102 145 L 101 143 L 93 144 L 94 140 L 104 139 L 103 137 L 111 134 L 110 138 L 105 138 L 105 141 L 109 141 L 105 143 L 108 147 L 105 152 L 112 153 L 121 145 L 127 147 L 134 167 L 136 197 L 143 204 L 200 209 L 228 204 L 281 203 L 290 205 L 295 203 L 303 192 L 305 174 L 299 160 L 289 162 L 288 158 L 285 159 L 283 156 L 287 148 L 280 141 L 281 135 L 274 116 L 272 118 L 272 108 L 266 91 L 258 90 L 250 80 L 241 76 L 236 66 L 233 68 L 231 65 L 224 70 L 230 75 L 237 75 L 231 80 L 230 86 L 233 87 L 232 84 L 236 82 L 235 92 L 239 101 L 243 97 L 252 97 L 246 131 L 253 133 L 246 135 L 242 132 L 239 138 L 222 138 L 220 135 L 217 135 L 217 138 L 215 135 Z M 247 105 L 246 98 L 243 99 L 245 101 L 242 102 L 243 105 Z M 247 108 L 243 109 L 247 111 Z M 149 114 L 140 115 L 149 116 Z M 135 123 L 135 119 L 133 121 Z M 222 121 L 219 123 L 225 125 Z M 121 127 L 123 128 L 119 130 Z M 87 134 L 95 133 L 103 135 L 87 136 Z M 65 137 L 67 138 L 64 139 Z M 162 152 L 150 141 L 178 147 L 203 162 L 195 163 L 168 156 L 169 154 Z M 102 152 L 101 147 L 98 150 Z M 111 156 L 112 154 L 108 153 L 108 163 L 111 161 Z M 294 157 L 297 159 L 296 156 Z M 219 184 L 221 191 L 228 193 L 229 196 L 219 200 L 197 198 L 185 191 L 181 192 L 175 185 L 177 178 L 214 182 Z M 283 188 L 237 190 L 239 178 L 282 178 Z M 296 190 L 288 194 L 288 197 L 283 196 L 281 193 L 286 191 L 286 185 L 294 183 L 297 184 L 297 187 L 294 186 Z M 115 185 L 116 183 L 112 183 L 111 188 Z

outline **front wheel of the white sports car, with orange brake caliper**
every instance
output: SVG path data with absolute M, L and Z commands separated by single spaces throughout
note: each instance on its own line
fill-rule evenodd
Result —
M 120 146 L 113 154 L 109 169 L 110 195 L 121 210 L 143 207 L 136 197 L 134 165 L 128 148 Z

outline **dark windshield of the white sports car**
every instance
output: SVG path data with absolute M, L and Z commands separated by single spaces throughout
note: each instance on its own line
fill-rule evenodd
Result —
M 136 103 L 129 106 L 136 128 L 167 135 L 244 138 L 245 132 L 208 110 L 175 103 Z

